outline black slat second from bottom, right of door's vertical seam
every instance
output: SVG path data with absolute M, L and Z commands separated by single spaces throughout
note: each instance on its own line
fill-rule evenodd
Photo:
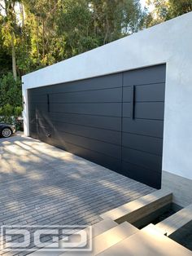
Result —
M 162 157 L 124 147 L 122 148 L 122 160 L 150 170 L 160 171 L 162 165 Z

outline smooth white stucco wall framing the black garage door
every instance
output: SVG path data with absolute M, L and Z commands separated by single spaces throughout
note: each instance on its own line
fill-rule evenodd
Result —
M 28 88 L 166 63 L 163 170 L 192 179 L 191 24 L 190 12 L 24 76 L 25 135 Z

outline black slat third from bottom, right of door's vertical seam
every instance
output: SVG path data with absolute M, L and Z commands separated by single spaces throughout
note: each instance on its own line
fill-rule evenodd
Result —
M 163 139 L 123 133 L 122 144 L 124 147 L 162 155 Z

